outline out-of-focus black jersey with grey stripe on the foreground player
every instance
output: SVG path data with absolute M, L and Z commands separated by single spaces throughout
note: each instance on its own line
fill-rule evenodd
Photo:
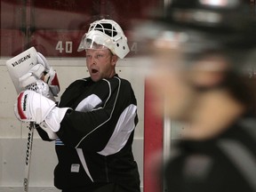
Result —
M 164 169 L 166 191 L 256 191 L 255 118 L 242 118 L 211 140 L 175 146 Z

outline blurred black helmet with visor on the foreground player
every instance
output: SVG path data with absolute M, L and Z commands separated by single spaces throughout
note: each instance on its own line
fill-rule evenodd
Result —
M 138 41 L 149 40 L 157 49 L 180 46 L 190 60 L 215 50 L 235 64 L 256 45 L 255 18 L 243 0 L 172 0 L 164 14 L 154 16 L 137 28 Z

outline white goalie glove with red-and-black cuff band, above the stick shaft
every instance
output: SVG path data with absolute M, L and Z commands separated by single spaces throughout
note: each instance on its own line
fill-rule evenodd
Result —
M 20 92 L 14 104 L 14 114 L 20 121 L 39 124 L 50 139 L 52 132 L 60 130 L 60 122 L 68 109 L 58 108 L 52 100 L 29 90 Z

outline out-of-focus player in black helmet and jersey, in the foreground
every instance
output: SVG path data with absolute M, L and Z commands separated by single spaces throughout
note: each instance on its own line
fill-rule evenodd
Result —
M 164 164 L 168 192 L 256 191 L 256 44 L 246 10 L 238 0 L 173 0 L 138 29 L 152 48 L 153 110 L 188 124 Z

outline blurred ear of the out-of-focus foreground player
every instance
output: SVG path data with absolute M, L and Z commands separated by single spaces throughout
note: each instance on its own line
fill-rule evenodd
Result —
M 197 87 L 214 87 L 221 84 L 226 76 L 228 61 L 220 57 L 212 57 L 196 61 L 189 76 L 192 84 Z

